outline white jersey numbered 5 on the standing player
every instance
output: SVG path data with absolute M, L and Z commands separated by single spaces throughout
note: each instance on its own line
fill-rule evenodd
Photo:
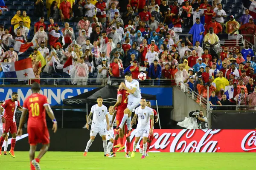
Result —
M 98 104 L 93 105 L 90 112 L 93 113 L 92 127 L 101 127 L 102 125 L 105 125 L 104 120 L 108 114 L 108 108 L 105 105 L 102 105 L 101 107 L 99 107 Z

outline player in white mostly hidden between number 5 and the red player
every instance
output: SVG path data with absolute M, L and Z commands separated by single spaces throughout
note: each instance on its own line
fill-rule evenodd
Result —
M 111 105 L 109 108 L 108 108 L 108 122 L 109 122 L 109 126 L 112 124 L 112 117 L 113 117 L 113 112 L 111 112 L 111 109 L 113 108 L 113 105 Z M 114 120 L 113 120 L 114 121 Z M 107 121 L 105 119 L 105 125 L 106 125 L 106 128 L 108 127 L 107 125 Z M 111 153 L 111 149 L 113 147 L 113 142 L 114 142 L 114 130 L 113 130 L 113 127 L 110 127 L 110 130 L 107 131 L 107 136 L 106 136 L 106 140 L 108 142 L 108 146 L 107 146 L 107 152 L 108 154 L 110 155 Z

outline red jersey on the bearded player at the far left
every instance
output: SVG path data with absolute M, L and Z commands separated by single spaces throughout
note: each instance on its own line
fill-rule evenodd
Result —
M 8 99 L 5 102 L 3 102 L 3 105 L 1 107 L 4 110 L 4 119 L 15 122 L 15 113 L 18 107 L 20 107 L 20 102 L 14 101 L 12 102 L 12 99 Z

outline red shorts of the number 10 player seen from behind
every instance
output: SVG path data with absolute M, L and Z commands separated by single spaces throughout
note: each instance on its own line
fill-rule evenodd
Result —
M 49 144 L 50 136 L 47 127 L 28 127 L 29 144 Z

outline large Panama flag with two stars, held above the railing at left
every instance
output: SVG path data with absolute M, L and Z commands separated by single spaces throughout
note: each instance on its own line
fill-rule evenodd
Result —
M 17 78 L 18 81 L 35 78 L 31 58 L 22 59 L 16 62 L 0 63 L 6 78 Z

